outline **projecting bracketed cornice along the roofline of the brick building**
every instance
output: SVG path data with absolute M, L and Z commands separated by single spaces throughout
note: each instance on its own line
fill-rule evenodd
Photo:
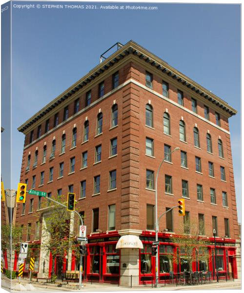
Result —
M 56 99 L 51 101 L 48 105 L 44 106 L 39 112 L 37 112 L 25 123 L 23 123 L 20 127 L 18 127 L 18 130 L 20 132 L 24 132 L 28 127 L 36 123 L 48 112 L 53 111 L 54 108 L 56 108 L 58 105 L 69 99 L 81 88 L 85 87 L 87 84 L 91 83 L 93 80 L 98 78 L 101 74 L 103 74 L 103 72 L 110 69 L 114 64 L 120 62 L 123 58 L 131 55 L 137 56 L 140 60 L 140 63 L 146 62 L 150 64 L 157 70 L 166 74 L 168 77 L 171 77 L 180 84 L 186 86 L 188 89 L 191 89 L 195 93 L 201 95 L 207 101 L 213 103 L 214 105 L 224 110 L 227 113 L 227 115 L 232 116 L 237 113 L 237 111 L 234 108 L 232 108 L 230 105 L 228 105 L 226 102 L 224 102 L 222 99 L 220 99 L 207 89 L 205 89 L 203 86 L 195 83 L 194 81 L 186 77 L 183 73 L 179 72 L 159 57 L 150 53 L 148 50 L 144 49 L 136 42 L 129 41 L 122 48 L 120 48 L 118 51 L 116 51 L 110 57 L 108 57 L 104 62 L 100 63 L 91 71 L 89 71 L 78 82 L 76 82 L 63 93 L 61 93 L 61 95 L 59 95 Z

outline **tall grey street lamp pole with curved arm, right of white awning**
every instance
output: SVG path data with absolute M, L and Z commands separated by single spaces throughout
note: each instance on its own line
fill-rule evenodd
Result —
M 163 165 L 163 162 L 166 158 L 168 158 L 169 155 L 171 155 L 174 151 L 179 150 L 180 147 L 176 147 L 173 151 L 171 151 L 167 156 L 163 158 L 163 161 L 159 165 L 157 175 L 156 175 L 156 181 L 155 181 L 155 241 L 158 241 L 158 233 L 159 233 L 159 219 L 158 219 L 158 177 L 159 177 L 159 171 L 160 168 Z M 156 271 L 156 287 L 158 287 L 159 283 L 159 247 L 157 246 L 157 253 L 156 253 L 156 259 L 155 259 L 155 271 Z

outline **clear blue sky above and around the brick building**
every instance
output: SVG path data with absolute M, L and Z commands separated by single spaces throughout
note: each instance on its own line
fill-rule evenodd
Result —
M 97 5 L 97 9 L 42 8 L 42 4 L 59 3 Z M 114 3 L 124 5 L 123 10 L 102 10 L 98 2 L 14 4 L 40 4 L 41 8 L 12 9 L 12 188 L 19 182 L 24 143 L 17 127 L 95 67 L 110 46 L 133 40 L 239 111 L 229 125 L 241 222 L 239 4 Z M 127 5 L 158 9 L 125 9 Z M 7 131 L 6 115 L 2 112 Z M 7 162 L 2 160 L 3 175 Z M 8 178 L 5 185 L 10 185 Z

